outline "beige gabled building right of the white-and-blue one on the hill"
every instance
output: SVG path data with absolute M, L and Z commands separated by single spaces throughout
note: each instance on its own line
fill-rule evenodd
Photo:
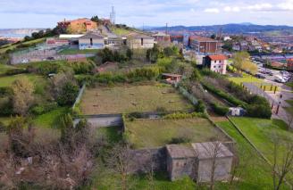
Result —
M 127 45 L 131 49 L 150 49 L 155 44 L 155 38 L 140 33 L 130 33 L 127 36 Z

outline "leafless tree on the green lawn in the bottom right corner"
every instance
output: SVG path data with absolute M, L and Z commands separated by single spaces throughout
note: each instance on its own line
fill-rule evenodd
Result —
M 284 182 L 286 182 L 285 178 L 288 176 L 289 172 L 292 171 L 293 143 L 287 140 L 280 141 L 280 139 L 275 139 L 272 163 L 273 188 L 279 190 Z

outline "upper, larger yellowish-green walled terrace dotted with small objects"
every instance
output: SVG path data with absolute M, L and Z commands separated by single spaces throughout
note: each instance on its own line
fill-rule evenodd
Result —
M 193 106 L 164 84 L 88 88 L 80 103 L 84 114 L 189 111 Z

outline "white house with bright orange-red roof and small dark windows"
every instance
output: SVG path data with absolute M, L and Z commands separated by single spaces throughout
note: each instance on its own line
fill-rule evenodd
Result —
M 213 54 L 205 57 L 205 66 L 214 72 L 226 74 L 228 59 L 223 54 Z

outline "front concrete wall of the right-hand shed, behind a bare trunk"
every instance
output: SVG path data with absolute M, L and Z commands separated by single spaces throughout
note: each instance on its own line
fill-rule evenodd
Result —
M 215 181 L 228 180 L 230 178 L 230 170 L 233 157 L 217 158 L 215 161 L 215 169 L 213 178 Z M 197 182 L 210 182 L 212 174 L 213 160 L 199 160 L 197 162 Z

